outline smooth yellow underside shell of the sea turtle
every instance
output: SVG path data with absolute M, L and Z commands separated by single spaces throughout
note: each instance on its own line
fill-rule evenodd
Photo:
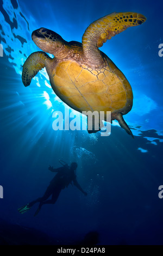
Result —
M 130 84 L 111 60 L 109 66 L 99 70 L 73 60 L 61 62 L 51 76 L 51 84 L 62 100 L 80 112 L 116 112 L 133 99 Z

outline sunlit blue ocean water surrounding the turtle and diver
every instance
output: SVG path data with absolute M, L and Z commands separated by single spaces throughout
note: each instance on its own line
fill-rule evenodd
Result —
M 163 185 L 162 7 L 162 1 L 0 1 L 3 221 L 40 230 L 58 244 L 82 241 L 91 231 L 99 235 L 98 245 L 163 244 L 163 199 L 158 197 Z M 21 80 L 23 63 L 39 51 L 31 34 L 45 27 L 66 41 L 81 42 L 91 22 L 114 11 L 147 17 L 101 48 L 133 88 L 134 105 L 124 118 L 135 139 L 116 122 L 108 137 L 54 131 L 52 114 L 65 104 L 54 94 L 45 69 L 27 88 Z M 36 206 L 21 215 L 17 208 L 43 195 L 54 176 L 48 166 L 60 167 L 59 159 L 77 161 L 77 179 L 87 196 L 70 185 L 36 217 Z

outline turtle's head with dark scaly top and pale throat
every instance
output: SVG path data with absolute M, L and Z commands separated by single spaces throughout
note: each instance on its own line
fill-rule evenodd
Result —
M 65 40 L 61 36 L 47 28 L 39 28 L 32 33 L 32 40 L 44 52 L 55 53 L 61 45 L 65 45 Z

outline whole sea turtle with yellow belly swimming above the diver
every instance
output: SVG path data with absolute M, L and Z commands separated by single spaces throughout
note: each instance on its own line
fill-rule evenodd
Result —
M 82 111 L 111 112 L 112 120 L 133 137 L 123 119 L 133 106 L 133 92 L 127 78 L 98 48 L 128 27 L 142 24 L 146 17 L 137 13 L 112 13 L 91 23 L 82 43 L 67 42 L 49 29 L 40 28 L 32 39 L 42 51 L 34 52 L 23 65 L 22 81 L 29 86 L 32 78 L 46 67 L 51 86 L 68 106 Z M 101 127 L 101 126 L 100 126 Z M 97 130 L 89 131 L 96 132 Z

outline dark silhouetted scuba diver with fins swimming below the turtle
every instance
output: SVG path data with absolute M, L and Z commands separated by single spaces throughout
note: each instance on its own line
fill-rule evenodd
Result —
M 64 162 L 64 161 L 62 161 Z M 61 163 L 61 162 L 60 162 Z M 62 163 L 61 163 L 62 164 Z M 51 180 L 49 186 L 47 187 L 47 190 L 45 191 L 45 194 L 43 197 L 39 197 L 36 200 L 28 203 L 27 205 L 22 206 L 18 209 L 18 211 L 21 214 L 24 214 L 24 212 L 28 211 L 35 203 L 39 202 L 39 207 L 37 208 L 34 216 L 36 216 L 39 211 L 41 210 L 41 207 L 43 204 L 55 204 L 57 201 L 59 194 L 61 190 L 64 190 L 65 187 L 68 187 L 69 184 L 72 184 L 76 186 L 82 193 L 87 196 L 87 193 L 80 187 L 78 184 L 78 181 L 76 179 L 76 169 L 78 167 L 78 164 L 76 162 L 71 163 L 70 166 L 68 164 L 62 164 L 63 167 L 60 168 L 53 168 L 52 166 L 49 166 L 48 169 L 51 170 L 51 172 L 57 173 L 54 178 Z M 52 199 L 47 200 L 52 195 Z

